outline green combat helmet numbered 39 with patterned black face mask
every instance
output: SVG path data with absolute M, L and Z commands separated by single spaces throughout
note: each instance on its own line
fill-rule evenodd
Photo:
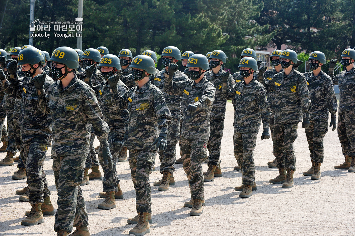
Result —
M 52 78 L 54 80 L 66 77 L 67 73 L 69 73 L 68 68 L 76 69 L 79 67 L 79 56 L 77 52 L 74 49 L 65 46 L 55 49 L 49 60 L 64 64 L 65 67 L 64 74 L 62 74 L 61 68 L 52 67 Z M 75 72 L 75 70 L 72 70 L 71 72 Z

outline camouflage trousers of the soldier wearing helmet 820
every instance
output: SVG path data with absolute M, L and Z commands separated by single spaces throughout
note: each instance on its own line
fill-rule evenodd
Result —
M 176 143 L 179 142 L 180 138 L 180 111 L 170 111 L 173 121 L 168 127 L 168 136 L 166 141 L 168 142 L 168 147 L 164 152 L 158 152 L 160 160 L 160 173 L 163 174 L 164 171 L 169 171 L 171 174 L 174 173 L 174 164 L 176 161 Z

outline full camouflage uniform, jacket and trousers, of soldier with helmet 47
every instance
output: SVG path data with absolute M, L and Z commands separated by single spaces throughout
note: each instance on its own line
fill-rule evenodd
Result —
M 136 190 L 137 212 L 152 213 L 152 194 L 148 181 L 157 155 L 157 147 L 152 144 L 158 138 L 158 129 L 162 133 L 168 132 L 171 114 L 162 91 L 150 81 L 139 89 L 131 88 L 123 96 L 112 90 L 112 100 L 116 101 L 114 109 L 128 109 L 130 112 L 127 148 L 130 149 L 129 161 Z

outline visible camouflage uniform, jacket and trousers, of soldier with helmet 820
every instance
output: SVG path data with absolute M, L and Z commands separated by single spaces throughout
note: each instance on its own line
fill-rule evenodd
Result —
M 185 81 L 188 77 L 181 71 L 176 71 L 174 75 L 169 75 L 165 70 L 156 72 L 153 76 L 150 77 L 151 83 L 157 86 L 160 90 L 163 91 L 164 79 L 171 77 L 173 81 Z M 164 93 L 165 103 L 168 105 L 168 108 L 173 117 L 173 121 L 169 125 L 168 137 L 166 141 L 168 142 L 168 147 L 164 152 L 158 152 L 160 159 L 160 173 L 163 174 L 164 171 L 169 171 L 170 174 L 173 174 L 175 171 L 174 164 L 176 161 L 176 143 L 179 142 L 180 138 L 180 120 L 181 120 L 181 96 L 180 95 L 170 95 Z

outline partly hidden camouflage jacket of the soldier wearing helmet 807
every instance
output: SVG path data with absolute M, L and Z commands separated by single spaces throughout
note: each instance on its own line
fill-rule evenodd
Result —
M 224 70 L 222 70 L 221 68 L 217 74 L 213 73 L 212 70 L 204 73 L 206 79 L 209 82 L 213 83 L 215 89 L 214 102 L 211 111 L 211 117 L 213 117 L 214 119 L 225 119 L 228 89 L 222 89 L 222 78 L 220 76 L 223 72 Z M 228 82 L 230 87 L 235 84 L 232 75 L 229 75 Z

